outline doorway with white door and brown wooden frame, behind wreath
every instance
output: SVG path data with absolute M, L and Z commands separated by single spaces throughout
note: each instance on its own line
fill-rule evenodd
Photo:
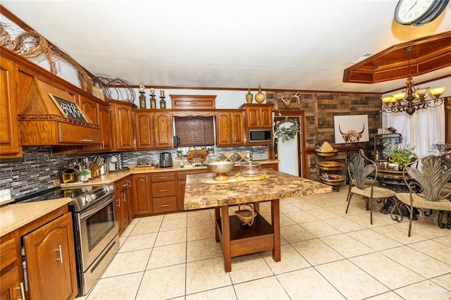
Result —
M 275 139 L 274 154 L 279 161 L 278 168 L 280 172 L 305 177 L 307 176 L 307 141 L 304 111 L 274 111 L 276 127 L 278 125 L 285 126 L 283 123 L 290 124 L 291 120 L 297 122 L 299 132 L 293 139 L 288 141 L 282 142 Z

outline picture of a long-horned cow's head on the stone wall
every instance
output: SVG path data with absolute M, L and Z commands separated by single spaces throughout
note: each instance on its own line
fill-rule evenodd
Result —
M 368 115 L 334 115 L 335 144 L 369 142 Z

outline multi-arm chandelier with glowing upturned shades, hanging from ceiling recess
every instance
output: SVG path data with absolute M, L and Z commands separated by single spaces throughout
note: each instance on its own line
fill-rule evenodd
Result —
M 445 92 L 445 87 L 422 88 L 416 89 L 414 87 L 414 80 L 410 73 L 410 53 L 414 46 L 408 46 L 404 50 L 409 53 L 409 77 L 406 82 L 406 89 L 404 91 L 393 94 L 391 96 L 381 97 L 383 102 L 382 111 L 385 113 L 402 113 L 405 111 L 412 115 L 415 111 L 425 109 L 428 107 L 437 107 L 443 104 L 444 101 L 450 100 L 450 97 L 440 96 Z M 427 99 L 430 96 L 431 99 Z

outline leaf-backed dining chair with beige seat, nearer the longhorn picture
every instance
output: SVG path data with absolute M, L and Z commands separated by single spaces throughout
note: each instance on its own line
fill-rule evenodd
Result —
M 370 211 L 370 224 L 373 225 L 373 200 L 388 199 L 395 196 L 395 192 L 377 186 L 378 168 L 374 161 L 359 152 L 350 152 L 347 155 L 347 173 L 350 178 L 350 190 L 347 194 L 348 211 L 351 198 L 354 194 L 363 196 L 365 208 Z

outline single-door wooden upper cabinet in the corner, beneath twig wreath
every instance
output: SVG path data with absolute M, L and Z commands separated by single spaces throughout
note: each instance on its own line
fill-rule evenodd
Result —
M 110 100 L 113 120 L 113 150 L 132 150 L 135 148 L 132 106 L 125 101 Z

